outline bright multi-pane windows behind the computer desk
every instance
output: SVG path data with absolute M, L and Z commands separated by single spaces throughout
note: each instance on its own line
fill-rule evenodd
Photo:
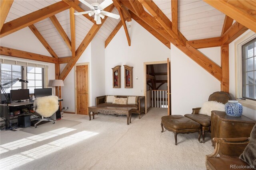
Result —
M 1 84 L 21 78 L 28 80 L 28 83 L 21 83 L 19 81 L 7 84 L 4 86 L 6 93 L 14 89 L 29 89 L 29 93 L 33 94 L 35 88 L 44 87 L 44 68 L 32 66 L 19 66 L 13 64 L 1 64 Z M 2 93 L 2 92 L 1 92 Z

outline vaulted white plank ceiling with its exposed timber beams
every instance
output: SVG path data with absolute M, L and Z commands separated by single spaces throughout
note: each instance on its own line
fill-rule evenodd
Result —
M 123 26 L 127 37 L 124 43 L 132 45 L 127 29 L 132 18 L 166 47 L 175 45 L 217 78 L 226 91 L 228 44 L 247 29 L 256 32 L 255 0 L 114 0 L 104 10 L 120 14 L 120 19 L 106 17 L 100 25 L 87 14 L 74 16 L 76 11 L 87 10 L 78 0 L 1 0 L 0 37 L 29 27 L 52 57 L 8 47 L 1 47 L 0 52 L 56 63 L 56 72 L 60 63 L 67 63 L 56 74 L 57 79 L 64 80 L 94 36 L 105 41 L 106 47 Z M 221 47 L 221 66 L 197 50 L 206 47 Z

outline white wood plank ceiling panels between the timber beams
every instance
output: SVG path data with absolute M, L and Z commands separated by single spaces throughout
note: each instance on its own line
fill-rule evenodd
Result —
M 10 12 L 6 18 L 6 22 L 59 2 L 60 0 L 14 0 Z M 89 4 L 102 3 L 103 0 L 86 0 Z M 171 20 L 171 1 L 170 0 L 154 0 L 157 6 Z M 85 11 L 90 10 L 87 6 L 80 3 L 79 6 Z M 114 8 L 112 11 L 118 14 L 118 10 Z M 70 17 L 69 10 L 65 10 L 55 15 L 68 37 L 70 37 Z M 218 37 L 222 31 L 222 25 L 225 15 L 203 2 L 202 0 L 179 0 L 178 1 L 178 29 L 188 39 L 203 39 L 210 37 Z M 102 25 L 96 37 L 106 41 L 110 33 L 119 23 L 120 19 L 108 17 Z M 76 49 L 91 29 L 93 23 L 84 16 L 75 16 L 76 31 Z M 59 35 L 58 31 L 49 18 L 34 24 L 42 36 L 46 39 L 58 57 L 71 56 L 70 49 Z M 124 42 L 125 43 L 125 42 Z

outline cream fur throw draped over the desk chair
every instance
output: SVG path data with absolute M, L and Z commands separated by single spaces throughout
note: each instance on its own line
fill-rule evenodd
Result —
M 36 107 L 36 112 L 43 117 L 50 117 L 59 108 L 58 97 L 44 96 L 41 98 L 36 98 L 34 101 L 34 107 Z

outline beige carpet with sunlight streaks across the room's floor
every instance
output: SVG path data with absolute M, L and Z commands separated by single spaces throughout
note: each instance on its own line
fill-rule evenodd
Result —
M 80 121 L 34 135 L 24 131 L 2 131 L 0 169 L 205 169 L 205 155 L 213 151 L 210 134 L 199 143 L 197 133 L 161 133 L 161 117 L 166 109 L 126 116 L 88 116 L 64 113 L 63 119 Z M 36 129 L 35 129 L 36 131 Z

